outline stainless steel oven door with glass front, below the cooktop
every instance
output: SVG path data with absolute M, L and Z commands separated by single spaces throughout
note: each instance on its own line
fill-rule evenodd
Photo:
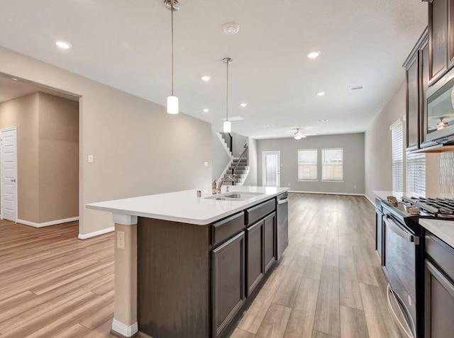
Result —
M 419 237 L 384 216 L 385 269 L 389 281 L 388 305 L 405 337 L 416 337 L 416 245 Z

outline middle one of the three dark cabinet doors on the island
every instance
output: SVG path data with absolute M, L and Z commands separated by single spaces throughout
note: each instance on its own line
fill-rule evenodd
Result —
M 253 293 L 255 287 L 265 276 L 263 257 L 263 221 L 246 229 L 246 296 Z

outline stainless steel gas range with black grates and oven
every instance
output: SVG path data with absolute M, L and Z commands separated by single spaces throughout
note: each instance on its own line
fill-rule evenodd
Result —
M 382 201 L 388 305 L 404 337 L 423 337 L 423 230 L 419 218 L 454 220 L 453 198 L 389 196 Z

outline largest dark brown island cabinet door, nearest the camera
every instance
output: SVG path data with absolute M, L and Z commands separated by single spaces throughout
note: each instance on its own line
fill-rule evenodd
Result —
M 245 232 L 213 250 L 213 337 L 218 337 L 245 301 Z

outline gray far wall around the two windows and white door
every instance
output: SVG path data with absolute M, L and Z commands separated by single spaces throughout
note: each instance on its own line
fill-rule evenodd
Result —
M 343 148 L 343 182 L 321 181 L 319 151 L 319 181 L 298 181 L 298 150 Z M 292 191 L 320 193 L 364 193 L 364 134 L 310 136 L 302 140 L 280 138 L 258 140 L 258 181 L 262 184 L 262 152 L 279 150 L 281 154 L 281 186 Z M 356 186 L 354 188 L 353 186 Z

